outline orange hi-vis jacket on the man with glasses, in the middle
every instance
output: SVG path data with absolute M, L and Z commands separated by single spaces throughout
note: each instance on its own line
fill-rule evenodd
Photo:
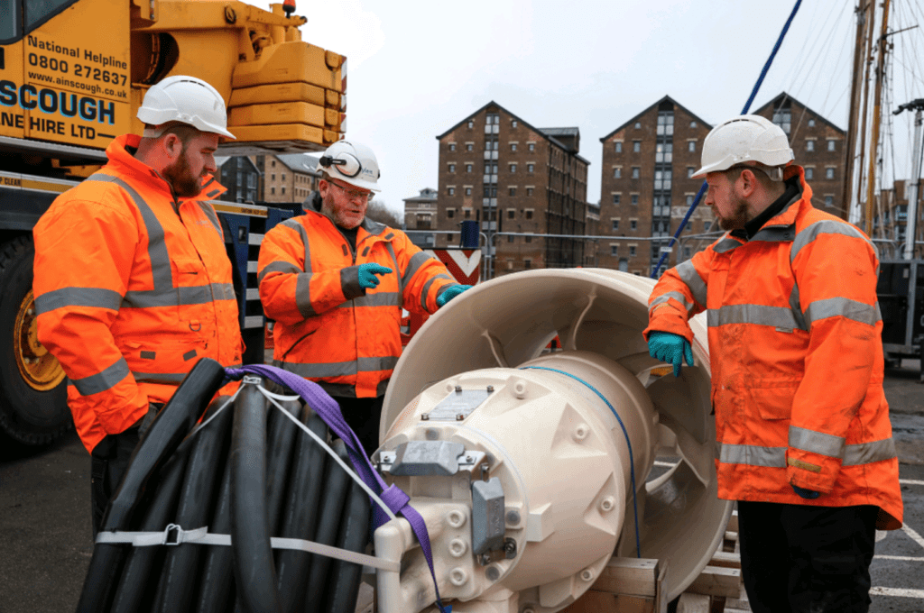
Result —
M 367 262 L 392 270 L 370 290 L 357 270 Z M 274 364 L 348 398 L 385 392 L 401 356 L 401 308 L 434 313 L 436 298 L 456 284 L 400 230 L 366 218 L 353 251 L 314 210 L 266 233 L 258 281 L 263 312 L 276 321 Z

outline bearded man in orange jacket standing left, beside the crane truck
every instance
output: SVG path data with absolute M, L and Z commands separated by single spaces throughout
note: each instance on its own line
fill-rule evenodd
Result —
M 210 198 L 225 102 L 198 78 L 147 91 L 144 136 L 55 199 L 33 230 L 39 340 L 64 367 L 91 452 L 93 534 L 156 410 L 202 357 L 243 351 L 231 262 Z M 227 390 L 225 390 L 227 391 Z

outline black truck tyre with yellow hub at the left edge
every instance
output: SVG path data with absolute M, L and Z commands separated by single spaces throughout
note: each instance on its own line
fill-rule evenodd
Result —
M 39 343 L 30 236 L 0 246 L 0 439 L 47 445 L 73 426 L 67 379 Z

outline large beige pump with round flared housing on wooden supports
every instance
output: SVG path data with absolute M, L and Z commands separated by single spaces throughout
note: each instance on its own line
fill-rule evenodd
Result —
M 691 320 L 696 367 L 675 378 L 641 336 L 652 287 L 614 270 L 510 275 L 407 346 L 375 459 L 426 521 L 454 612 L 552 613 L 639 553 L 667 560 L 674 598 L 718 547 L 731 503 L 716 497 L 706 326 Z M 654 478 L 659 456 L 672 467 Z M 379 612 L 432 607 L 407 521 L 379 528 L 375 549 L 401 562 L 379 571 Z

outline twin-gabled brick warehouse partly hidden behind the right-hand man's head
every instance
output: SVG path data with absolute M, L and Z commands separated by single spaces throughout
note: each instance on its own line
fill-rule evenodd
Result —
M 846 218 L 844 130 L 785 92 L 754 114 L 781 126 L 789 137 L 796 163 L 806 168 L 815 206 Z M 601 138 L 599 234 L 614 240 L 600 241 L 599 266 L 650 275 L 702 185 L 702 179 L 689 175 L 699 168 L 711 128 L 664 96 Z M 661 272 L 709 246 L 718 232 L 711 211 L 700 203 Z M 708 235 L 687 238 L 701 234 Z

